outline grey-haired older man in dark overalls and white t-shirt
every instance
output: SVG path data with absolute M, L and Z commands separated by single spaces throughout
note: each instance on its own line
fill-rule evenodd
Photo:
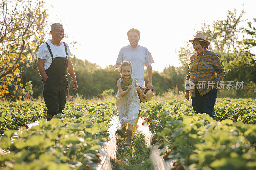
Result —
M 65 109 L 67 100 L 67 70 L 72 77 L 73 89 L 77 89 L 76 75 L 70 60 L 70 49 L 62 42 L 64 29 L 62 24 L 51 25 L 52 39 L 42 43 L 37 52 L 37 68 L 44 84 L 44 102 L 47 107 L 47 120 Z

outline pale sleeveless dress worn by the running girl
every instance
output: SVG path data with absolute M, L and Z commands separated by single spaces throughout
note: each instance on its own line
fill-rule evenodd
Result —
M 119 91 L 116 95 L 116 106 L 118 108 L 118 113 L 120 120 L 124 120 L 128 124 L 134 125 L 140 110 L 140 99 L 135 89 L 135 81 L 132 78 L 132 89 L 122 97 Z M 119 79 L 121 83 L 121 79 Z

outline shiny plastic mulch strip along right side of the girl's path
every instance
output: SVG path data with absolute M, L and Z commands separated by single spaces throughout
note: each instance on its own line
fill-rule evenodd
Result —
M 151 162 L 151 168 L 154 170 L 163 170 L 163 169 L 171 169 L 173 166 L 173 162 L 175 159 L 169 159 L 164 160 L 162 156 L 160 156 L 161 152 L 164 152 L 166 150 L 166 145 L 162 149 L 158 149 L 158 145 L 151 145 L 152 137 L 154 134 L 152 134 L 149 131 L 149 125 L 150 124 L 144 124 L 142 125 L 142 122 L 144 121 L 143 118 L 139 118 L 137 127 L 140 130 L 140 132 L 145 136 L 145 142 L 148 148 L 150 148 L 149 152 L 149 159 Z

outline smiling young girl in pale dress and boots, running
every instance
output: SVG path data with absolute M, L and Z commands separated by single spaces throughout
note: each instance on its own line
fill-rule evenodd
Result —
M 136 89 L 145 97 L 137 85 L 137 80 L 132 78 L 132 63 L 123 61 L 120 66 L 121 79 L 117 80 L 118 92 L 116 95 L 116 104 L 121 122 L 121 132 L 127 135 L 125 146 L 131 145 L 132 128 L 137 120 L 140 110 L 140 99 Z M 126 125 L 128 123 L 128 129 Z

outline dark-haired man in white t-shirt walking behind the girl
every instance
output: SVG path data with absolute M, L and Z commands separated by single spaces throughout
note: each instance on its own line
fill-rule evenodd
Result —
M 147 68 L 148 83 L 147 87 L 151 89 L 152 84 L 152 67 L 151 64 L 154 63 L 152 55 L 149 53 L 146 47 L 138 45 L 140 39 L 140 32 L 136 28 L 132 28 L 127 32 L 128 40 L 130 45 L 121 48 L 119 55 L 116 60 L 116 68 L 120 67 L 122 61 L 126 60 L 132 63 L 132 77 L 137 80 L 137 84 L 141 90 L 145 87 L 144 80 L 144 66 Z M 138 93 L 138 92 L 137 92 Z M 138 93 L 139 94 L 139 93 Z M 140 98 L 140 95 L 139 95 Z M 140 101 L 141 102 L 141 101 Z M 140 110 L 138 113 L 138 118 L 140 117 Z M 137 121 L 138 121 L 137 118 Z M 137 121 L 133 126 L 133 130 L 137 125 Z

